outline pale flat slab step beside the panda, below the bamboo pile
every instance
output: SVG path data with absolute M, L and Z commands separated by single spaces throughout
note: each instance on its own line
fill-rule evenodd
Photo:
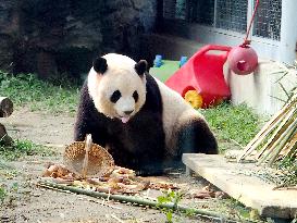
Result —
M 228 162 L 220 154 L 185 153 L 187 171 L 194 171 L 211 184 L 267 218 L 294 219 L 297 214 L 297 190 L 276 189 L 257 177 L 261 166 L 255 163 Z

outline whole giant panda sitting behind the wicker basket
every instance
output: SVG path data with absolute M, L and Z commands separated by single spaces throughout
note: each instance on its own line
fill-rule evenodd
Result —
M 81 90 L 74 139 L 91 134 L 116 165 L 140 175 L 180 166 L 184 152 L 218 153 L 203 116 L 147 70 L 145 60 L 122 54 L 95 59 Z

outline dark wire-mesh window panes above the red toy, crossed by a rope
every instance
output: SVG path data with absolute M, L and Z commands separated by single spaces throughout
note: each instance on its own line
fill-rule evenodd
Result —
M 257 0 L 164 0 L 164 17 L 245 34 Z M 248 16 L 248 13 L 250 15 Z M 280 40 L 282 0 L 261 0 L 252 35 Z

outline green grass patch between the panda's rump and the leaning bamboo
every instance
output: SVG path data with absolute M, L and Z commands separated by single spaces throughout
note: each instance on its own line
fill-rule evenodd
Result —
M 220 143 L 246 146 L 260 131 L 262 117 L 257 115 L 246 104 L 232 106 L 222 103 L 218 107 L 199 110 L 207 119 L 209 125 L 214 131 Z M 221 150 L 225 146 L 221 145 Z

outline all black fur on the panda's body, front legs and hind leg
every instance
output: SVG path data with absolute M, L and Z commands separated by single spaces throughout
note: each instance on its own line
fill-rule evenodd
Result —
M 184 152 L 218 153 L 216 140 L 208 124 L 197 117 L 173 131 L 173 147 L 177 156 L 168 157 L 161 94 L 156 80 L 149 74 L 145 75 L 146 102 L 125 124 L 96 110 L 85 82 L 81 92 L 74 139 L 82 141 L 85 140 L 86 134 L 91 134 L 94 143 L 102 147 L 109 146 L 109 152 L 116 165 L 133 169 L 141 175 L 161 174 L 165 165 L 180 166 Z

